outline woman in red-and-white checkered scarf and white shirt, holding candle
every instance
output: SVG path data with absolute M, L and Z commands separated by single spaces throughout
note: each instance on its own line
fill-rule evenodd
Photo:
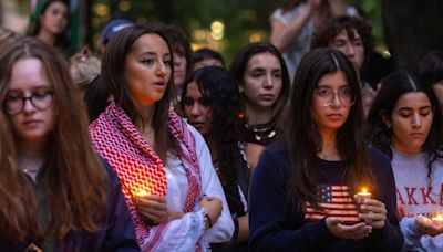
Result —
M 114 102 L 90 126 L 96 151 L 123 185 L 144 251 L 205 250 L 234 231 L 204 138 L 169 111 L 173 64 L 163 32 L 123 29 L 102 61 Z

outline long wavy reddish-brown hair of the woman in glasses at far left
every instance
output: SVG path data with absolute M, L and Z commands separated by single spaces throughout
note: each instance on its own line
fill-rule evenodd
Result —
M 53 91 L 54 128 L 48 137 L 47 166 L 41 171 L 47 222 L 38 225 L 37 197 L 19 168 L 18 137 L 9 115 L 0 112 L 0 232 L 12 240 L 27 235 L 54 237 L 71 230 L 96 232 L 106 208 L 109 177 L 94 155 L 87 116 L 66 62 L 55 50 L 25 38 L 0 52 L 0 99 L 3 103 L 16 62 L 38 59 Z M 4 118 L 4 119 L 3 119 Z

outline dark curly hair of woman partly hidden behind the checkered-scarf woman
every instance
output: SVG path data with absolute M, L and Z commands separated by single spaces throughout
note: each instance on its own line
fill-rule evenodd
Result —
M 219 154 L 217 162 L 222 185 L 225 190 L 228 188 L 236 197 L 239 197 L 236 172 L 240 169 L 239 166 L 246 166 L 246 162 L 239 146 L 240 123 L 237 115 L 240 112 L 240 95 L 237 84 L 230 73 L 220 66 L 207 66 L 195 71 L 183 85 L 181 99 L 183 112 L 186 103 L 186 87 L 192 82 L 197 83 L 202 97 L 212 108 L 209 134 L 214 136 Z

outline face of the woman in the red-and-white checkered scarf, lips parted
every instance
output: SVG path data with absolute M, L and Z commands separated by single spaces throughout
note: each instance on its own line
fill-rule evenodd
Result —
M 144 34 L 132 45 L 126 56 L 124 77 L 140 106 L 161 101 L 171 78 L 171 53 L 157 34 Z

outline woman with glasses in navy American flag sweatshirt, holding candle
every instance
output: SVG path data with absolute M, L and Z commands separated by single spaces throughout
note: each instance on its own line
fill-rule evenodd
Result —
M 251 251 L 399 251 L 389 158 L 368 148 L 356 71 L 333 49 L 307 53 L 298 67 L 282 140 L 253 174 Z M 372 198 L 357 193 L 365 187 Z

